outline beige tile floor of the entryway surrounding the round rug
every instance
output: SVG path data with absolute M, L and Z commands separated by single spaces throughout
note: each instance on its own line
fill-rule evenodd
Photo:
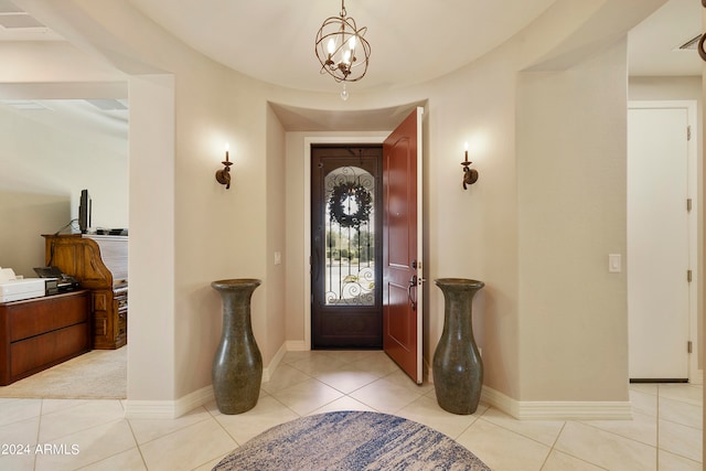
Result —
M 633 385 L 633 420 L 520 421 L 483 404 L 456 416 L 382 352 L 290 352 L 258 405 L 237 416 L 214 403 L 173 420 L 128 420 L 120 400 L 0 399 L 0 470 L 210 470 L 267 428 L 342 409 L 426 424 L 495 471 L 702 470 L 702 386 Z

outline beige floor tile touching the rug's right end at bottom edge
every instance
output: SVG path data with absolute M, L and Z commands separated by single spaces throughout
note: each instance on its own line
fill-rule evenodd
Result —
M 457 441 L 493 471 L 539 471 L 550 448 L 482 418 Z

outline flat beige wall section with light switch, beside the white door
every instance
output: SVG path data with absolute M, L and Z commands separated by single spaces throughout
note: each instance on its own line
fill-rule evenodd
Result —
M 625 50 L 520 77 L 523 400 L 628 400 Z

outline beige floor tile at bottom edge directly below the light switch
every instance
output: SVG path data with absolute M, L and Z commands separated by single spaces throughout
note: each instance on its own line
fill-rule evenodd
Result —
M 656 469 L 656 449 L 586 424 L 567 422 L 555 449 L 596 465 L 621 471 Z

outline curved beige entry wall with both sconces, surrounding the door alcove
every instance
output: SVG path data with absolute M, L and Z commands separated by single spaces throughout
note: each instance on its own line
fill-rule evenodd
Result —
M 627 400 L 624 281 L 608 276 L 606 257 L 624 253 L 624 35 L 660 1 L 557 1 L 515 39 L 449 76 L 345 104 L 335 94 L 276 88 L 225 69 L 127 2 L 25 3 L 131 76 L 131 403 L 180 399 L 210 385 L 221 330 L 212 280 L 263 278 L 253 319 L 266 365 L 284 341 L 304 339 L 306 260 L 297 253 L 307 211 L 303 138 L 277 122 L 268 101 L 333 110 L 427 103 L 427 358 L 443 309 L 431 280 L 477 278 L 486 283 L 474 318 L 488 387 L 526 402 Z M 600 108 L 581 113 L 597 100 Z M 564 119 L 568 114 L 573 120 Z M 471 156 L 480 180 L 464 192 L 459 162 L 467 140 L 482 144 Z M 224 141 L 235 162 L 228 191 L 213 176 Z M 609 173 L 599 182 L 607 194 L 595 201 L 581 194 L 595 195 L 593 164 Z M 575 208 L 592 224 L 564 221 L 579 214 Z M 539 213 L 559 223 L 550 233 L 558 245 L 538 240 Z M 285 266 L 274 265 L 279 249 Z M 580 285 L 560 271 L 566 257 Z

